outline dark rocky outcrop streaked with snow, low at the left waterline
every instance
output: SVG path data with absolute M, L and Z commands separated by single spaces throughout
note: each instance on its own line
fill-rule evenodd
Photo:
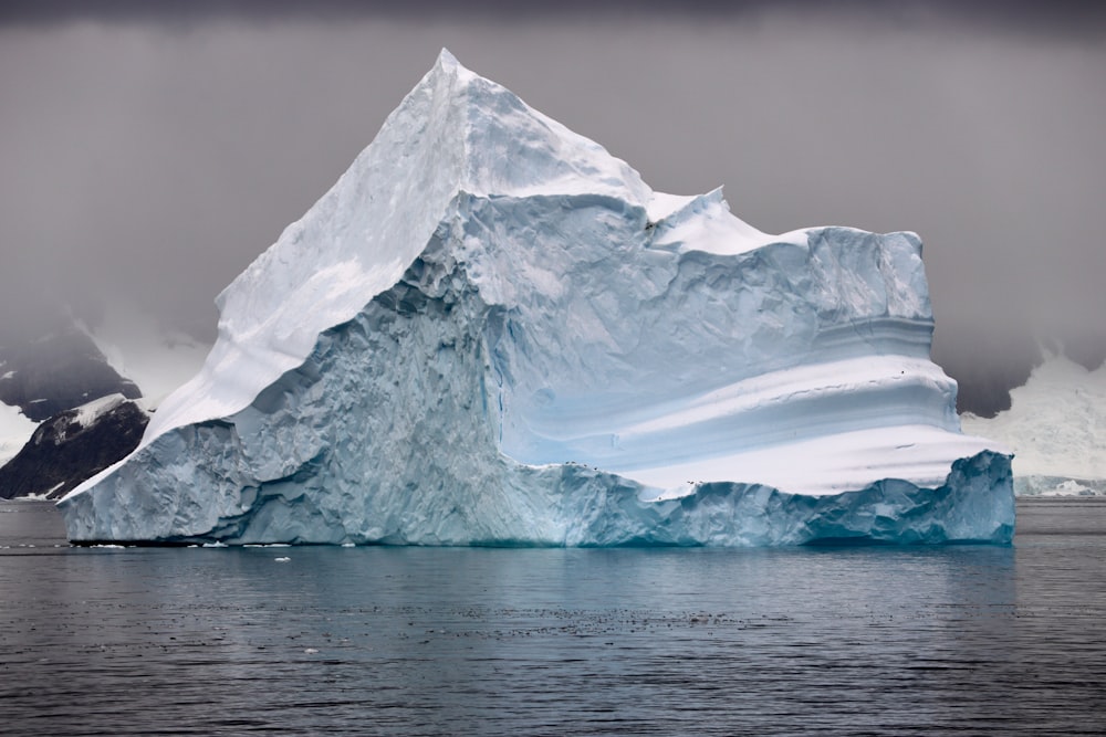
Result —
M 137 448 L 149 414 L 123 394 L 62 411 L 0 467 L 0 498 L 58 498 Z

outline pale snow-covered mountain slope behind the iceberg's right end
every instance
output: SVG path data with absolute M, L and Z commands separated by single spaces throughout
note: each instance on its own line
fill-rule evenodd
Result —
M 1106 494 L 1106 366 L 1046 355 L 1010 399 L 994 418 L 961 421 L 1013 451 L 1018 494 Z

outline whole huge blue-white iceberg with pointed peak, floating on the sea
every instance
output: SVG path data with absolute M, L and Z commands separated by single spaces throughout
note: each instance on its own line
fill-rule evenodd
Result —
M 79 544 L 1011 540 L 911 233 L 654 192 L 442 51 L 61 503 Z

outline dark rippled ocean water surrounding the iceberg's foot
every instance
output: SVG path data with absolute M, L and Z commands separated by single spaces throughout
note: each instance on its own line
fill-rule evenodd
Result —
M 0 733 L 1103 734 L 1106 499 L 1018 513 L 1011 547 L 117 549 L 3 503 Z

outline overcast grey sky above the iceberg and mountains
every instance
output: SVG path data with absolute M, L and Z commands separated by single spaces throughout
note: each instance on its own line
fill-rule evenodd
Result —
M 917 231 L 935 358 L 984 399 L 1037 340 L 1106 355 L 1106 3 L 670 4 L 6 0 L 2 319 L 126 297 L 211 339 L 448 46 L 654 189 Z

